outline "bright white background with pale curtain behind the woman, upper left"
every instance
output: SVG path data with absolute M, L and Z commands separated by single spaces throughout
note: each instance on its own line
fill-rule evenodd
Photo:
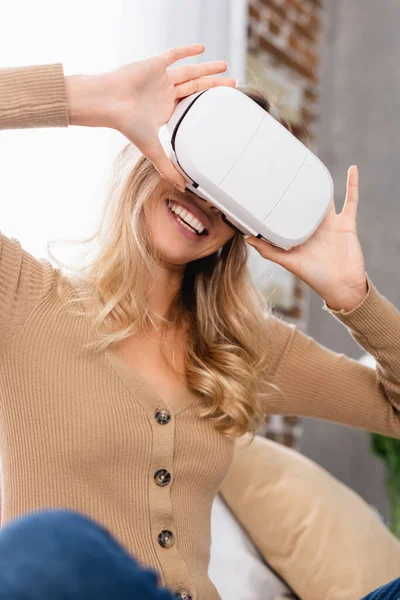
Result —
M 206 44 L 241 79 L 246 0 L 13 0 L 0 5 L 0 68 L 62 62 L 94 73 L 170 46 Z M 188 62 L 195 62 L 196 58 Z M 0 132 L 0 229 L 35 256 L 46 241 L 91 234 L 109 166 L 126 138 L 103 128 Z M 58 256 L 69 259 L 62 247 Z

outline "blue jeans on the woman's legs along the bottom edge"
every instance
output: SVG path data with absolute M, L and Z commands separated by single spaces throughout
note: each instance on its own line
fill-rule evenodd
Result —
M 1 600 L 174 600 L 102 527 L 75 512 L 32 513 L 0 531 Z M 362 600 L 400 600 L 400 578 Z

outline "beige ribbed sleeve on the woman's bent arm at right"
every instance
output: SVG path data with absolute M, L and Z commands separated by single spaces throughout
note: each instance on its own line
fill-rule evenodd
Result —
M 400 438 L 400 314 L 367 281 L 367 295 L 354 310 L 323 308 L 374 356 L 376 369 L 271 317 L 267 379 L 280 394 L 271 395 L 269 414 L 326 419 Z

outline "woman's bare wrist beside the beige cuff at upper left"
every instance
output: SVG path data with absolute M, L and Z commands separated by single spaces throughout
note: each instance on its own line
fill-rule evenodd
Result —
M 65 86 L 70 125 L 111 127 L 104 75 L 67 75 Z

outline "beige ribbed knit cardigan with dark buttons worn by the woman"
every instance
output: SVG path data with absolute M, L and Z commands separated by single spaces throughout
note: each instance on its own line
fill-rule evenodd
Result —
M 1 129 L 68 125 L 61 63 L 0 70 Z M 324 308 L 376 370 L 270 318 L 265 377 L 281 392 L 269 414 L 400 437 L 400 315 L 369 279 L 368 288 L 351 312 Z M 87 315 L 64 308 L 73 293 L 59 269 L 0 233 L 2 520 L 48 507 L 83 512 L 177 597 L 217 600 L 210 511 L 234 442 L 198 416 L 202 398 L 186 383 L 166 402 L 115 348 L 82 352 L 94 334 Z

